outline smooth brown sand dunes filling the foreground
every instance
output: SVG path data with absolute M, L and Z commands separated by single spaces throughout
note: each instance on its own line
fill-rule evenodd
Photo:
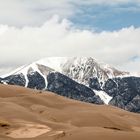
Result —
M 139 140 L 140 115 L 0 85 L 0 140 Z

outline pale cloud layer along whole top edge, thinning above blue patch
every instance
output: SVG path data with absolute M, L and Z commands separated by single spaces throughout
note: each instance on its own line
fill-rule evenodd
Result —
M 0 0 L 0 23 L 19 27 L 36 26 L 54 14 L 58 14 L 61 18 L 72 17 L 79 11 L 80 6 L 123 3 L 138 5 L 140 0 Z

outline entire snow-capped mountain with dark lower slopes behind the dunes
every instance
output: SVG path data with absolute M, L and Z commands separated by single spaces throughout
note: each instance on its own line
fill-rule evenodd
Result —
M 49 90 L 84 102 L 140 112 L 140 78 L 91 57 L 47 58 L 2 76 L 0 83 Z

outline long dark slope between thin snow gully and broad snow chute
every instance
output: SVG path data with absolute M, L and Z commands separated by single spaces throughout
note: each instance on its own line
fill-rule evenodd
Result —
M 88 87 L 75 82 L 67 76 L 55 72 L 47 77 L 49 91 L 89 103 L 103 104 L 102 100 Z

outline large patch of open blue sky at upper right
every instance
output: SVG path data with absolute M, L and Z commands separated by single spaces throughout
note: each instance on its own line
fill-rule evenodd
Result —
M 69 18 L 77 27 L 113 31 L 140 26 L 140 6 L 135 3 L 82 5 L 78 8 L 79 12 Z

